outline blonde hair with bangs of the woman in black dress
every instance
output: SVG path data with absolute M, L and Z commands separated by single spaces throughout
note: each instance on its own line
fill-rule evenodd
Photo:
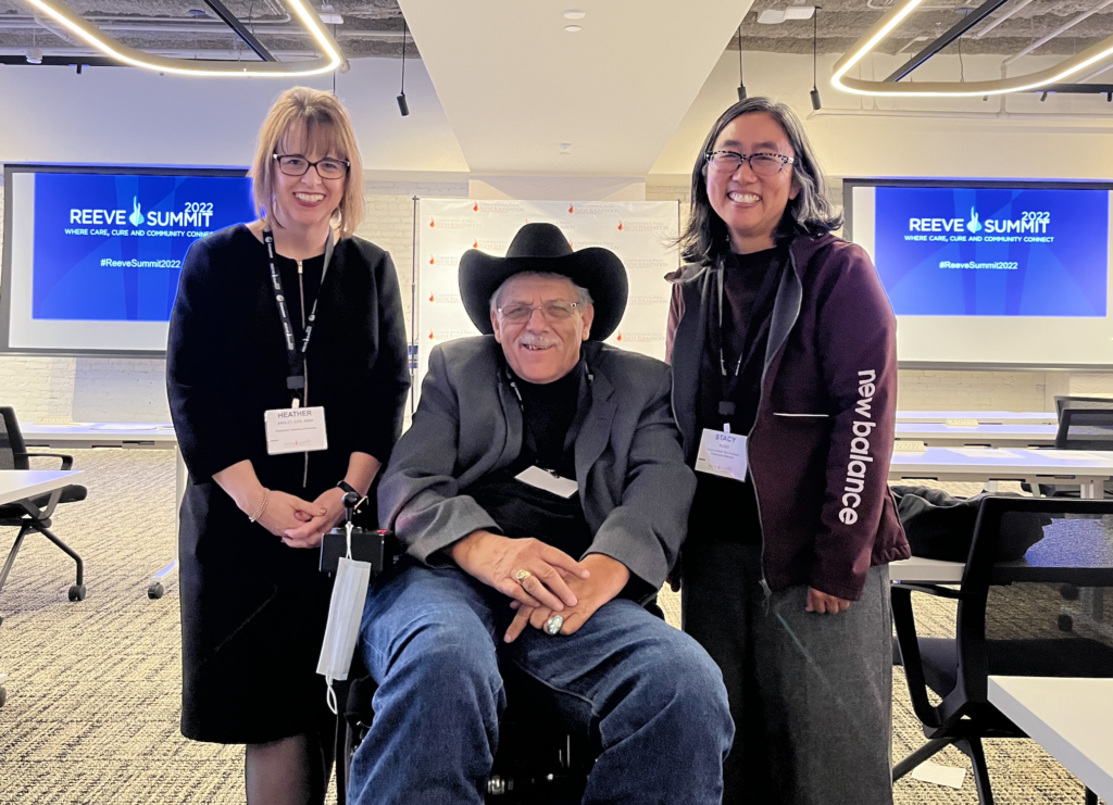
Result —
M 304 133 L 308 153 L 316 151 L 351 163 L 344 180 L 344 193 L 334 215 L 339 212 L 341 216 L 338 236 L 354 235 L 363 220 L 363 160 L 359 159 L 352 119 L 332 92 L 308 87 L 294 87 L 278 96 L 259 130 L 255 161 L 248 173 L 254 187 L 256 213 L 268 223 L 282 226 L 274 209 L 278 173 L 278 160 L 274 155 L 278 152 L 279 143 L 295 132 Z

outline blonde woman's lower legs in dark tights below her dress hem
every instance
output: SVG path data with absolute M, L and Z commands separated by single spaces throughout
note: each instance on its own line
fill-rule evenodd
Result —
M 335 756 L 336 717 L 316 733 L 248 744 L 244 777 L 248 805 L 321 805 Z

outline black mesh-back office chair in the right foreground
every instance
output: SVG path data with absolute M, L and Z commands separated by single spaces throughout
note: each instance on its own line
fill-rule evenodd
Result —
M 1024 558 L 995 561 L 1003 521 L 1006 529 L 1016 526 L 1007 518 L 1037 518 L 1044 537 Z M 957 602 L 954 637 L 917 635 L 913 593 Z M 896 765 L 893 779 L 953 744 L 971 758 L 979 803 L 993 805 L 982 738 L 1027 736 L 989 703 L 989 675 L 1113 677 L 1111 596 L 1113 501 L 983 500 L 958 589 L 892 587 L 899 660 L 928 738 Z

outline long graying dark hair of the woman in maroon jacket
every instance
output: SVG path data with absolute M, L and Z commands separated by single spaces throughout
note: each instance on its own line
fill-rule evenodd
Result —
M 688 226 L 680 236 L 678 244 L 684 262 L 710 264 L 721 254 L 729 251 L 730 241 L 727 225 L 711 207 L 707 195 L 708 155 L 715 148 L 716 140 L 727 125 L 741 115 L 766 112 L 785 130 L 796 163 L 792 166 L 792 185 L 799 189 L 795 199 L 789 199 L 777 229 L 778 240 L 791 238 L 795 235 L 818 237 L 843 226 L 841 213 L 827 200 L 827 179 L 824 177 L 816 152 L 804 131 L 804 123 L 787 103 L 779 103 L 770 98 L 747 98 L 727 109 L 711 127 L 703 148 L 700 150 L 692 169 L 692 201 Z

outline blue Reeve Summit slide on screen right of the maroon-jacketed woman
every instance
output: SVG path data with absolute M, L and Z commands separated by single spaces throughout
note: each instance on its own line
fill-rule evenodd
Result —
M 1109 191 L 878 187 L 874 257 L 903 316 L 1105 316 Z

